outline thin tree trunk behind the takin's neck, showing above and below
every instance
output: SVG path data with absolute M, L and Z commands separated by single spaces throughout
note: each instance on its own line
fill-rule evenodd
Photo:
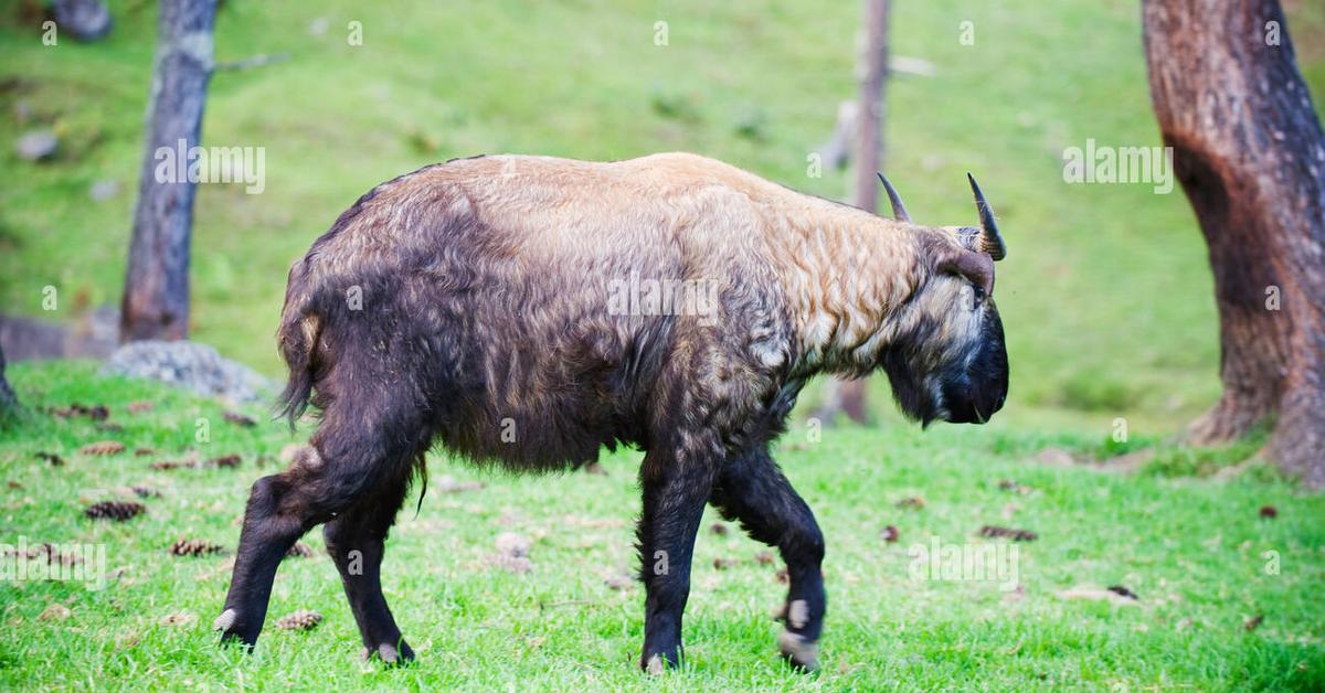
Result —
M 860 107 L 856 118 L 855 187 L 852 204 L 874 212 L 878 207 L 878 162 L 882 156 L 884 89 L 888 80 L 888 11 L 889 0 L 865 0 L 865 53 L 860 77 Z M 825 420 L 837 412 L 857 424 L 867 423 L 865 380 L 831 382 L 820 416 Z

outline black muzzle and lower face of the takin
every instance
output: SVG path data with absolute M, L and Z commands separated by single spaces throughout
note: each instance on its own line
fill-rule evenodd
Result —
M 880 366 L 888 372 L 897 405 L 924 425 L 935 419 L 954 424 L 988 421 L 1003 408 L 1008 380 L 1003 321 L 994 302 L 984 306 L 979 338 L 965 354 L 930 371 L 917 368 L 917 363 L 929 360 L 926 343 L 931 345 L 937 333 L 937 326 L 922 325 L 882 355 Z

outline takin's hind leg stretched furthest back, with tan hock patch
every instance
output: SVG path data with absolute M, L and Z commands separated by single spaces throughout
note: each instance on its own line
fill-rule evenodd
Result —
M 411 403 L 392 392 L 334 401 L 294 464 L 253 484 L 225 610 L 215 624 L 223 640 L 257 641 L 276 570 L 299 537 L 388 480 L 409 477 L 423 436 Z

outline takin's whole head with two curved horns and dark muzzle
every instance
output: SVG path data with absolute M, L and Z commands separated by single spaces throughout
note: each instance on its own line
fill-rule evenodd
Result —
M 1007 348 L 994 305 L 994 262 L 1007 246 L 994 212 L 967 174 L 980 227 L 914 227 L 921 278 L 894 319 L 896 338 L 882 354 L 897 404 L 912 417 L 983 424 L 1007 398 Z M 897 191 L 878 175 L 893 216 L 910 224 Z

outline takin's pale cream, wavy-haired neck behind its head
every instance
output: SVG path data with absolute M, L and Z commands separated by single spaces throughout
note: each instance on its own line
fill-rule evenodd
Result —
M 892 339 L 921 278 L 914 227 L 808 199 L 771 215 L 774 262 L 798 339 L 798 371 L 861 374 Z

